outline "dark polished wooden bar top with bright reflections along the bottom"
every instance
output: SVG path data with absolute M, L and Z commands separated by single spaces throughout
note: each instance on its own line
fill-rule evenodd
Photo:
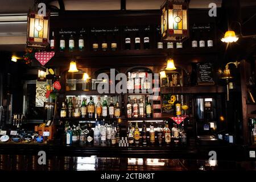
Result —
M 92 156 L 0 155 L 0 171 L 256 171 L 256 162 L 217 160 L 101 158 Z

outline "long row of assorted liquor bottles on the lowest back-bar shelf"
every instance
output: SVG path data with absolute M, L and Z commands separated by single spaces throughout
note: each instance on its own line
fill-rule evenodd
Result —
M 150 123 L 150 128 L 143 121 L 142 129 L 139 129 L 138 122 L 135 126 L 129 123 L 127 133 L 121 132 L 118 123 L 112 125 L 105 124 L 105 121 L 97 121 L 94 129 L 89 123 L 88 125 L 70 126 L 68 122 L 65 124 L 65 144 L 77 144 L 80 146 L 175 146 L 187 144 L 187 134 L 185 133 L 183 124 L 170 130 L 166 121 L 164 128 L 158 125 L 154 129 L 154 124 Z

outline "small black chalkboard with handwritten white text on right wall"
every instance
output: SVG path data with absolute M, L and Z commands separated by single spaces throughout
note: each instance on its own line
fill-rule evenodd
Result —
M 214 85 L 212 63 L 197 63 L 197 84 Z

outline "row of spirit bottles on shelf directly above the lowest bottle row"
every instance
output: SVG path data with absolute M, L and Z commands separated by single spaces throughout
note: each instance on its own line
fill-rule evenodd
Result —
M 68 106 L 68 107 L 67 107 Z M 97 104 L 94 104 L 93 97 L 90 97 L 90 101 L 86 104 L 85 97 L 69 97 L 68 104 L 63 102 L 60 110 L 60 118 L 121 118 L 121 109 L 119 102 L 114 104 L 113 97 L 110 99 L 108 105 L 106 97 L 101 102 L 101 97 L 98 96 Z M 130 98 L 127 101 L 127 118 L 151 118 L 152 106 L 150 100 L 147 98 L 146 103 L 143 102 L 143 98 L 137 102 L 137 98 L 134 98 L 133 104 L 130 102 Z

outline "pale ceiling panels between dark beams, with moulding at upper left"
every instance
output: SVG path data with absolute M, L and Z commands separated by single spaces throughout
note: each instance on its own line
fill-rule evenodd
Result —
M 59 8 L 58 1 L 49 5 Z M 146 3 L 145 3 L 146 2 Z M 126 10 L 156 10 L 164 0 L 126 0 Z M 222 0 L 190 0 L 190 9 L 208 9 L 209 3 L 221 7 Z M 63 0 L 65 10 L 120 10 L 121 0 Z M 256 1 L 241 0 L 242 6 L 256 6 Z M 26 44 L 27 12 L 34 6 L 34 0 L 0 1 L 0 50 L 23 51 Z M 18 15 L 18 16 L 9 16 Z M 15 42 L 15 40 L 17 40 Z M 19 41 L 18 41 L 19 40 Z

